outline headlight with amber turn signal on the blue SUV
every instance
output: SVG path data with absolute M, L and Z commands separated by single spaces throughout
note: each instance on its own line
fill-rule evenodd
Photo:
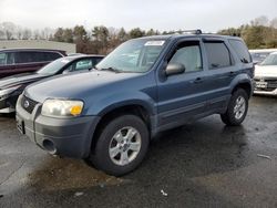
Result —
M 47 100 L 41 114 L 51 117 L 73 117 L 81 115 L 82 110 L 82 101 Z

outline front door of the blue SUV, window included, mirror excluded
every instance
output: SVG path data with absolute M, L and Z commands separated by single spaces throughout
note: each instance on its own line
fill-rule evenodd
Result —
M 207 83 L 201 40 L 178 41 L 165 62 L 182 63 L 186 71 L 183 74 L 167 76 L 165 80 L 160 79 L 157 83 L 160 129 L 189 122 L 201 116 L 206 106 Z

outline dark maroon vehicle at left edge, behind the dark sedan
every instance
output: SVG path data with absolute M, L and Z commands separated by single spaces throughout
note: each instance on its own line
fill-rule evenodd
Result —
M 34 72 L 48 63 L 65 56 L 65 51 L 44 49 L 0 50 L 0 79 L 24 72 Z

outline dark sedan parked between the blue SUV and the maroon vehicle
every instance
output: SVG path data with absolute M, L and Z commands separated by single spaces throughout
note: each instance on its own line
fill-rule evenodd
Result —
M 103 58 L 103 55 L 60 58 L 34 73 L 17 74 L 0 80 L 0 113 L 14 112 L 18 96 L 29 84 L 58 74 L 91 70 Z

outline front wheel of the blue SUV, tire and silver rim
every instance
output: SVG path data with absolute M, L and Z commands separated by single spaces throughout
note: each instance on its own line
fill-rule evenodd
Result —
M 109 175 L 122 176 L 141 164 L 148 143 L 147 126 L 140 117 L 119 116 L 105 125 L 98 138 L 94 154 L 88 159 Z

